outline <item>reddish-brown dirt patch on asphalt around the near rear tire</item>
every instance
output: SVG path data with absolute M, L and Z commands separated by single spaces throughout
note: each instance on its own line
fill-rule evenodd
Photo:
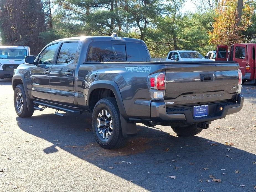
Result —
M 95 158 L 98 157 L 99 155 L 106 157 L 134 155 L 137 153 L 145 152 L 146 150 L 150 149 L 151 146 L 149 145 L 149 142 L 151 140 L 151 138 L 144 137 L 132 138 L 126 142 L 126 145 L 124 147 L 112 150 L 103 149 L 96 142 L 93 142 L 87 146 L 77 146 L 77 152 L 88 152 L 88 155 L 86 155 L 86 157 L 90 158 Z

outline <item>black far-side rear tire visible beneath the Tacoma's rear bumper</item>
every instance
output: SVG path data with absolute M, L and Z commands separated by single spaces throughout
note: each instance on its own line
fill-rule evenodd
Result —
M 174 126 L 172 130 L 177 133 L 179 137 L 189 137 L 194 136 L 200 133 L 203 129 L 197 128 L 195 125 L 188 125 L 188 126 Z

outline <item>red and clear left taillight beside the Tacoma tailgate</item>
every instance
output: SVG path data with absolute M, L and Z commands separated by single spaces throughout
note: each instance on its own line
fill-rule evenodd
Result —
M 151 99 L 164 99 L 165 93 L 165 72 L 154 73 L 148 77 L 149 92 Z

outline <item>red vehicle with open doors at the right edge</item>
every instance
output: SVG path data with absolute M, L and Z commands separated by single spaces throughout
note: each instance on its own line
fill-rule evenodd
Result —
M 256 85 L 256 70 L 255 70 L 255 51 L 256 43 L 241 43 L 230 46 L 228 55 L 228 46 L 218 45 L 216 61 L 236 61 L 239 63 L 242 71 L 242 83 L 247 81 L 254 81 Z

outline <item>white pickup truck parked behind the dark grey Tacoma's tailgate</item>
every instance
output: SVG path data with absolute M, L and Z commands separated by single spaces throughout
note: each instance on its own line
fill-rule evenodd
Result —
M 204 58 L 197 51 L 170 51 L 167 55 L 166 61 L 211 61 Z

